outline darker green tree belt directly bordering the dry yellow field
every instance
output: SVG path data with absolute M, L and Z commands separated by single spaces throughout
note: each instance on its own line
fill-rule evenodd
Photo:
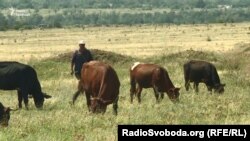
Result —
M 83 10 L 66 11 L 50 16 L 38 13 L 18 17 L 0 13 L 0 30 L 61 28 L 85 25 L 132 25 L 132 24 L 200 24 L 234 23 L 250 21 L 250 9 L 237 10 L 180 10 L 153 13 L 99 12 L 85 14 Z

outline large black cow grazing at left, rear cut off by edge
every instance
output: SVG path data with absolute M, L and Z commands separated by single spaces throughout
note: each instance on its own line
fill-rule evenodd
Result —
M 17 90 L 19 109 L 22 108 L 22 101 L 28 109 L 29 96 L 33 97 L 38 109 L 43 107 L 44 98 L 51 98 L 42 92 L 34 68 L 19 62 L 0 62 L 0 89 Z

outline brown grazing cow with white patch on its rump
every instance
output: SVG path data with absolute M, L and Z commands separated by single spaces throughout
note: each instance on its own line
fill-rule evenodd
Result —
M 137 89 L 136 84 L 138 84 Z M 153 88 L 157 102 L 159 101 L 159 92 L 161 93 L 161 99 L 163 99 L 164 92 L 166 92 L 171 101 L 179 101 L 180 88 L 175 88 L 169 78 L 168 72 L 156 64 L 134 63 L 130 68 L 130 85 L 131 103 L 135 94 L 137 95 L 138 102 L 141 102 L 143 88 Z

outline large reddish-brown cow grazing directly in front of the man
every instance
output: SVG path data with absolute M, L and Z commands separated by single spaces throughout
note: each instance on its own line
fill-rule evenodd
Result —
M 84 63 L 73 104 L 78 95 L 85 92 L 89 111 L 105 113 L 107 105 L 113 103 L 113 112 L 117 115 L 119 88 L 118 76 L 109 64 L 95 60 Z

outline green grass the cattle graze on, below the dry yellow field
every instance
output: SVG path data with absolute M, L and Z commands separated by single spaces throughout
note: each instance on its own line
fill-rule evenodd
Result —
M 113 115 L 111 105 L 104 115 L 89 113 L 84 95 L 74 106 L 70 105 L 77 86 L 76 79 L 69 74 L 70 54 L 29 62 L 37 70 L 43 91 L 53 97 L 45 101 L 43 110 L 37 110 L 30 99 L 29 111 L 12 112 L 10 126 L 0 129 L 1 141 L 114 141 L 117 140 L 118 124 L 250 123 L 250 82 L 246 77 L 249 72 L 244 71 L 249 65 L 245 61 L 250 58 L 247 54 L 188 50 L 138 59 L 112 52 L 95 52 L 96 59 L 109 61 L 118 73 L 121 82 L 118 116 Z M 200 84 L 198 94 L 193 89 L 185 91 L 182 64 L 192 58 L 208 60 L 218 66 L 221 81 L 226 83 L 224 94 L 211 95 L 204 84 Z M 153 90 L 144 89 L 142 103 L 138 104 L 135 98 L 131 104 L 128 69 L 136 60 L 164 66 L 174 85 L 181 87 L 180 103 L 172 103 L 166 95 L 156 103 Z M 1 91 L 1 102 L 16 107 L 16 92 Z

